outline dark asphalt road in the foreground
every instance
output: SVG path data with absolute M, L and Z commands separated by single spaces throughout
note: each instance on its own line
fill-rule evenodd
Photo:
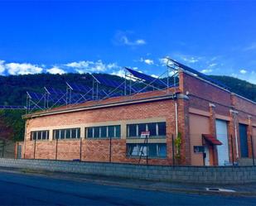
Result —
M 256 197 L 178 194 L 0 172 L 1 205 L 256 205 Z

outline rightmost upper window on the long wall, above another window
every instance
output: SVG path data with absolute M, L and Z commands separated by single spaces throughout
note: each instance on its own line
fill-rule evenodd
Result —
M 139 124 L 128 124 L 128 137 L 141 137 L 141 133 L 149 131 L 149 137 L 165 137 L 167 134 L 166 122 L 150 122 Z

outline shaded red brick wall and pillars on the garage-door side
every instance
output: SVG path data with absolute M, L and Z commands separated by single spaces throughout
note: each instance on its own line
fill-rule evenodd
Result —
M 210 113 L 210 117 L 214 117 L 216 114 L 229 117 L 228 131 L 229 131 L 229 160 L 232 160 L 232 145 L 231 136 L 233 137 L 233 151 L 234 160 L 236 160 L 236 142 L 234 132 L 234 119 L 231 116 L 230 109 L 237 111 L 237 136 L 239 143 L 239 122 L 248 125 L 248 148 L 249 157 L 252 156 L 252 146 L 250 136 L 252 135 L 252 125 L 256 124 L 256 104 L 252 103 L 244 98 L 240 98 L 233 93 L 229 93 L 223 89 L 220 89 L 212 84 L 197 79 L 190 74 L 181 72 L 181 91 L 183 93 L 188 92 L 190 98 L 189 103 L 191 108 L 196 108 Z M 210 103 L 215 104 L 214 110 L 210 108 Z M 249 119 L 249 116 L 250 119 Z M 215 118 L 215 117 L 214 117 Z M 210 131 L 212 135 L 215 135 L 215 121 L 210 121 Z M 239 147 L 239 145 L 238 145 Z M 240 151 L 240 147 L 239 147 Z M 217 154 L 215 154 L 217 159 Z M 216 164 L 216 163 L 215 163 Z

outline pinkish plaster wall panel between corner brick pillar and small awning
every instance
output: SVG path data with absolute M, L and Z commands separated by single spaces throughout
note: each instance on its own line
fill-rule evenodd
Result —
M 202 145 L 202 134 L 210 133 L 209 117 L 190 114 L 191 164 L 204 165 L 202 153 L 195 153 L 194 146 Z

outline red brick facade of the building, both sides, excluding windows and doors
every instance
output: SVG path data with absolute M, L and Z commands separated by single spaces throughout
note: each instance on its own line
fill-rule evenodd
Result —
M 209 117 L 209 131 L 213 137 L 216 137 L 215 120 L 227 121 L 230 162 L 233 156 L 234 160 L 240 157 L 236 156 L 236 147 L 239 148 L 238 153 L 240 151 L 239 144 L 236 144 L 237 141 L 239 143 L 239 122 L 248 125 L 248 151 L 249 157 L 251 157 L 250 136 L 256 136 L 253 133 L 253 127 L 256 127 L 256 104 L 184 71 L 180 71 L 179 76 L 179 88 L 170 89 L 168 93 L 167 91 L 139 93 L 132 97 L 109 98 L 101 102 L 91 101 L 71 108 L 55 108 L 51 111 L 27 115 L 23 157 L 27 159 L 138 163 L 138 158 L 127 156 L 127 124 L 145 121 L 157 122 L 160 119 L 166 122 L 166 137 L 152 138 L 149 142 L 166 143 L 167 157 L 151 158 L 148 163 L 172 165 L 172 154 L 176 152 L 173 151 L 172 136 L 176 138 L 177 112 L 177 129 L 178 132 L 181 132 L 180 164 L 191 165 L 193 152 L 191 152 L 192 136 L 189 119 L 192 110 L 199 116 Z M 236 119 L 231 110 L 237 113 Z M 88 125 L 104 126 L 109 124 L 121 125 L 121 138 L 112 139 L 111 142 L 109 139 L 85 138 L 85 127 Z M 236 132 L 234 125 L 236 125 Z M 57 141 L 52 138 L 54 129 L 70 127 L 80 127 L 81 139 Z M 31 131 L 46 129 L 50 130 L 49 140 L 31 140 Z M 142 139 L 137 141 L 143 142 Z M 256 153 L 256 148 L 254 153 Z M 142 158 L 141 163 L 146 163 L 146 158 Z M 210 165 L 218 165 L 217 146 L 210 146 Z

